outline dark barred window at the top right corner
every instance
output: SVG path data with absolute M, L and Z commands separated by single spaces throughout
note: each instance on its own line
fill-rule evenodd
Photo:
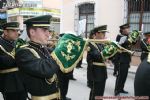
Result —
M 127 16 L 125 20 L 130 23 L 131 30 L 142 32 L 150 31 L 150 0 L 125 0 Z M 139 43 L 139 42 L 138 42 Z M 134 49 L 140 49 L 137 44 Z

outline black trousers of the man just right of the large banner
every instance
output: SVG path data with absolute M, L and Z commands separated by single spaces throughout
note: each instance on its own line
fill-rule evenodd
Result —
M 96 96 L 103 96 L 104 95 L 105 83 L 106 83 L 106 80 L 97 81 L 97 82 L 93 81 L 89 100 L 96 100 L 95 99 Z

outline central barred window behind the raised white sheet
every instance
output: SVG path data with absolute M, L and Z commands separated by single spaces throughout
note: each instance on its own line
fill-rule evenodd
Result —
M 79 5 L 79 21 L 86 19 L 84 37 L 88 37 L 91 29 L 94 28 L 94 4 L 87 3 Z

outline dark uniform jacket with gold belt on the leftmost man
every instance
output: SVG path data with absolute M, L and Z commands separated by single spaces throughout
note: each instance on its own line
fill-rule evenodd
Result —
M 0 92 L 23 91 L 23 84 L 18 71 L 6 72 L 6 70 L 17 69 L 15 59 L 8 55 L 14 49 L 14 41 L 8 41 L 0 37 Z M 5 49 L 6 52 L 4 52 Z

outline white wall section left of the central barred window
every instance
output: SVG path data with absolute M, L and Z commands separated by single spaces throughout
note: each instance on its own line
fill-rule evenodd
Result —
M 75 6 L 95 0 L 62 0 L 60 32 L 75 31 Z

